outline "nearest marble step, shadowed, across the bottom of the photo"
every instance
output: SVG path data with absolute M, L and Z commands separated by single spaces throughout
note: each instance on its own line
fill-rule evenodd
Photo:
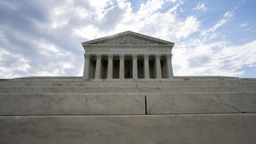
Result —
M 255 143 L 256 114 L 0 116 L 0 143 Z

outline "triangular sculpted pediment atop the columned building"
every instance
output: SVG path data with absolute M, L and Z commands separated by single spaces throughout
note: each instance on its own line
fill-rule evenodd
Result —
M 137 44 L 166 44 L 166 45 L 174 45 L 174 43 L 156 39 L 155 37 L 146 36 L 139 33 L 134 33 L 132 31 L 125 31 L 123 33 L 114 34 L 112 36 L 102 37 L 100 39 L 90 40 L 82 43 L 82 45 L 137 45 Z

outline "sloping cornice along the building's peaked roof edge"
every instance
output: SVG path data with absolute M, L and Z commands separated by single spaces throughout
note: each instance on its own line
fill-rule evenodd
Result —
M 166 43 L 166 44 L 171 45 L 171 46 L 174 46 L 174 44 L 175 44 L 175 43 L 172 43 L 171 41 L 162 40 L 162 39 L 158 39 L 158 38 L 151 37 L 151 36 L 146 36 L 145 34 L 135 33 L 133 31 L 124 31 L 124 32 L 113 34 L 113 35 L 110 35 L 110 36 L 106 36 L 106 37 L 101 37 L 101 38 L 94 39 L 94 40 L 85 41 L 85 42 L 82 43 L 82 46 L 89 45 L 89 43 L 95 43 L 97 41 L 101 41 L 101 40 L 105 40 L 105 39 L 110 39 L 111 37 L 122 36 L 124 34 L 135 34 L 137 36 L 144 37 L 146 39 L 151 39 L 151 40 L 159 41 L 161 43 Z M 145 45 L 145 44 L 143 44 L 143 45 Z

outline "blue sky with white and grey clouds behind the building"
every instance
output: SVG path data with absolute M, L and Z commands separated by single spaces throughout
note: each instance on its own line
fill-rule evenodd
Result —
M 82 42 L 174 42 L 174 76 L 256 78 L 255 0 L 0 0 L 0 78 L 82 76 Z

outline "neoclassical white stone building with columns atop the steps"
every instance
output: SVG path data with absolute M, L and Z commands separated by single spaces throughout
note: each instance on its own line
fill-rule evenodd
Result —
M 82 46 L 84 79 L 173 78 L 172 42 L 125 31 Z

